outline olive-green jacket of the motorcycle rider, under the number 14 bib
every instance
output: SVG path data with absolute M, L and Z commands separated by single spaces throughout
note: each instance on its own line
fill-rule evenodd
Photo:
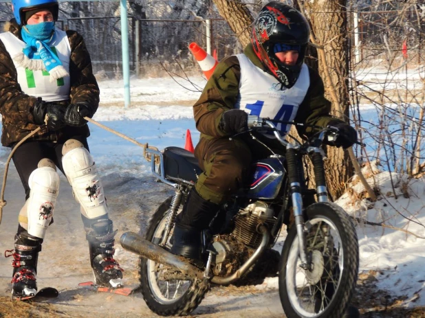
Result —
M 250 61 L 265 71 L 259 58 L 254 53 L 252 45 L 244 51 Z M 303 102 L 298 108 L 294 122 L 326 126 L 331 120 L 338 120 L 329 115 L 331 102 L 324 96 L 323 80 L 318 73 L 309 67 L 310 86 Z M 219 128 L 219 122 L 224 111 L 233 109 L 239 93 L 241 68 L 236 56 L 222 60 L 215 68 L 211 78 L 206 83 L 201 97 L 193 106 L 196 127 L 201 132 L 201 137 L 222 137 L 224 132 Z M 308 135 L 311 128 L 297 126 L 300 135 Z

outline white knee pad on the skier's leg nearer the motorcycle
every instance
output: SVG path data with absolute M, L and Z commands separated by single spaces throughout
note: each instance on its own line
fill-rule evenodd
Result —
M 62 166 L 83 215 L 97 218 L 108 213 L 105 192 L 93 157 L 80 141 L 69 139 L 63 145 Z

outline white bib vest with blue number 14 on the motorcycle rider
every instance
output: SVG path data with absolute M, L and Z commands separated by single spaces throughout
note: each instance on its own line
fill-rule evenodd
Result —
M 245 54 L 237 54 L 241 65 L 241 81 L 235 108 L 243 109 L 250 115 L 269 117 L 274 120 L 292 122 L 303 102 L 310 86 L 307 65 L 303 64 L 295 85 L 290 89 L 280 90 L 281 84 L 274 76 L 256 67 Z M 277 124 L 281 135 L 286 135 L 290 124 Z

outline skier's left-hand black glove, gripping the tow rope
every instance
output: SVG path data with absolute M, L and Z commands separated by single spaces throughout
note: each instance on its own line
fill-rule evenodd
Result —
M 65 127 L 65 107 L 37 100 L 32 111 L 34 122 L 37 125 L 46 124 L 49 130 L 58 130 Z

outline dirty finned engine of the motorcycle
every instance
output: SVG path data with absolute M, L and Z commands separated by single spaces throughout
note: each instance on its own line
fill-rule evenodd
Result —
M 215 250 L 214 275 L 226 277 L 235 273 L 259 247 L 262 238 L 257 231 L 259 225 L 272 229 L 275 223 L 274 211 L 266 203 L 257 201 L 241 209 L 235 216 L 232 233 L 217 235 L 212 242 Z

